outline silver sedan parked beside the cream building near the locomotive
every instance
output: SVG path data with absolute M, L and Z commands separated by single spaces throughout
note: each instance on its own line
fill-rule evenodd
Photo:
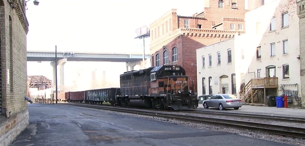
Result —
M 224 110 L 226 108 L 239 109 L 242 107 L 242 100 L 232 94 L 215 94 L 211 98 L 204 100 L 202 103 L 205 109 L 219 108 Z

